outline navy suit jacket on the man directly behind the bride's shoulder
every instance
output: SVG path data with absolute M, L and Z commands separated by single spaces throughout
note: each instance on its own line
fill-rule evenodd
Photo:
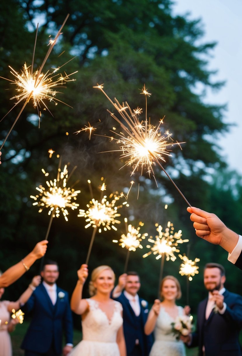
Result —
M 153 336 L 144 334 L 144 324 L 148 316 L 148 303 L 146 300 L 139 298 L 141 325 L 137 329 L 137 317 L 130 305 L 129 300 L 121 293 L 120 297 L 115 298 L 123 307 L 123 333 L 125 337 L 127 356 L 131 355 L 135 346 L 136 335 L 138 335 L 139 345 L 141 346 L 142 356 L 148 356 L 153 344 Z M 145 305 L 145 307 L 142 306 Z

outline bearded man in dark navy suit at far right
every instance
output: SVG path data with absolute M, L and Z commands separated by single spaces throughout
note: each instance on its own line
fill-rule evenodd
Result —
M 198 306 L 197 330 L 182 337 L 188 346 L 199 347 L 199 356 L 241 356 L 239 333 L 242 328 L 242 297 L 224 288 L 225 269 L 207 263 L 204 286 L 208 298 Z

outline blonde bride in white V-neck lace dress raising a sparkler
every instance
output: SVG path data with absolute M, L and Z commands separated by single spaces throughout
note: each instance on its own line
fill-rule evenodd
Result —
M 89 299 L 82 299 L 88 266 L 77 271 L 78 281 L 71 297 L 71 309 L 82 315 L 83 339 L 68 356 L 126 356 L 123 336 L 122 306 L 110 298 L 114 288 L 114 271 L 99 266 L 92 272 Z

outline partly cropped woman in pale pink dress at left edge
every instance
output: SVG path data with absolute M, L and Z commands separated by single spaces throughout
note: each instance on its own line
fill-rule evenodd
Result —
M 1 273 L 0 273 L 1 274 Z M 35 276 L 25 292 L 16 302 L 9 300 L 0 300 L 0 356 L 12 356 L 12 344 L 9 333 L 14 331 L 17 319 L 11 319 L 12 309 L 20 309 L 21 304 L 25 304 L 31 297 L 33 290 L 40 284 L 41 277 Z M 0 299 L 5 289 L 0 288 Z

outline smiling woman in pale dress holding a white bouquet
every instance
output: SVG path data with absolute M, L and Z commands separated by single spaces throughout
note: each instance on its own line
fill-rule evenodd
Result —
M 176 299 L 181 298 L 181 286 L 173 276 L 166 276 L 160 284 L 160 302 L 156 299 L 144 326 L 145 334 L 154 330 L 155 342 L 149 356 L 186 356 L 185 346 L 181 340 L 176 340 L 172 333 L 171 323 L 177 316 L 189 314 L 190 308 L 184 309 L 176 305 Z

